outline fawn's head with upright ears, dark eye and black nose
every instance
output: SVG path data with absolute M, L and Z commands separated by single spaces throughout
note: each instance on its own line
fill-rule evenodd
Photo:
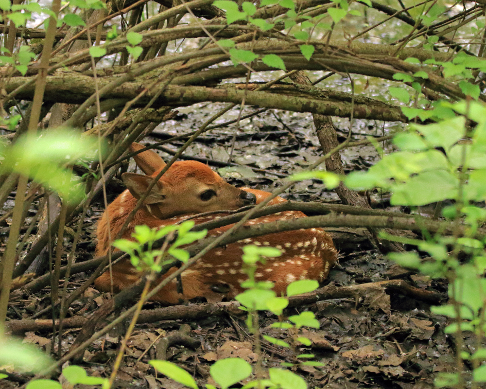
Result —
M 130 151 L 141 148 L 142 145 L 132 143 Z M 123 173 L 121 177 L 130 193 L 139 199 L 166 164 L 152 150 L 139 153 L 134 159 L 146 175 Z M 255 195 L 228 184 L 204 163 L 179 161 L 157 181 L 144 204 L 157 218 L 167 219 L 184 213 L 235 210 L 255 201 Z

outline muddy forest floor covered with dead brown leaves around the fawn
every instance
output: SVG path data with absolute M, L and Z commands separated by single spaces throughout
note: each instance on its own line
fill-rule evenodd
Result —
M 252 108 L 246 107 L 243 114 L 250 111 Z M 192 131 L 214 112 L 214 104 L 179 109 L 176 120 L 158 126 L 155 134 L 142 143 L 153 143 L 168 138 L 169 134 L 173 136 Z M 236 118 L 238 114 L 238 109 L 233 109 L 221 122 Z M 349 121 L 336 120 L 335 125 L 341 138 L 339 141 L 343 141 L 347 135 Z M 352 139 L 362 140 L 364 136 L 388 135 L 391 130 L 391 126 L 384 128 L 382 124 L 355 121 Z M 211 131 L 193 143 L 185 155 L 226 162 L 233 149 L 232 162 L 247 167 L 223 168 L 219 171 L 220 174 L 225 175 L 226 179 L 236 186 L 244 185 L 272 191 L 281 185 L 284 179 L 282 177 L 298 172 L 322 155 L 314 131 L 312 117 L 309 114 L 282 114 L 268 110 L 259 117 L 245 120 L 236 137 L 233 136 L 234 127 Z M 182 143 L 174 143 L 167 147 L 176 150 L 180 144 Z M 393 147 L 391 143 L 380 145 L 385 152 Z M 165 153 L 161 155 L 166 160 L 169 157 Z M 347 172 L 365 169 L 378 157 L 372 145 L 350 148 L 342 152 Z M 254 171 L 249 167 L 263 169 L 266 172 Z M 113 181 L 107 188 L 108 202 L 123 189 L 120 181 Z M 287 194 L 287 198 L 299 201 L 339 202 L 339 198 L 323 189 L 322 183 L 318 180 L 297 183 Z M 374 208 L 403 211 L 390 207 L 387 199 L 386 195 L 371 196 Z M 8 205 L 13 206 L 13 200 L 13 197 L 10 197 Z M 78 245 L 76 262 L 94 257 L 94 230 L 103 210 L 103 202 L 98 199 L 88 212 L 82 242 Z M 32 210 L 29 217 L 32 217 L 34 212 L 35 210 Z M 416 212 L 426 213 L 428 209 Z M 75 222 L 70 225 L 71 228 L 75 227 Z M 370 286 L 361 298 L 314 301 L 288 308 L 286 316 L 311 310 L 319 320 L 320 329 L 309 329 L 305 334 L 312 340 L 309 347 L 286 349 L 263 342 L 260 356 L 263 367 L 278 367 L 282 362 L 294 363 L 295 372 L 304 377 L 309 388 L 433 388 L 434 374 L 451 371 L 454 366 L 453 342 L 443 333 L 446 318 L 432 314 L 430 306 L 433 304 L 424 299 L 405 297 L 396 291 L 387 290 L 387 294 L 384 293 L 385 289 L 379 286 L 379 282 L 390 279 L 405 280 L 419 289 L 435 291 L 442 296 L 447 292 L 447 284 L 442 280 L 431 280 L 411 274 L 393 265 L 386 255 L 371 246 L 364 238 L 362 230 L 330 229 L 330 233 L 340 251 L 340 264 L 330 272 L 327 287 L 356 286 L 364 283 Z M 34 239 L 35 235 L 32 241 Z M 65 252 L 69 252 L 72 244 L 72 236 L 69 233 L 64 244 Z M 69 289 L 78 287 L 88 276 L 88 273 L 81 273 L 71 277 Z M 9 310 L 10 320 L 51 318 L 50 312 L 35 316 L 50 304 L 49 292 L 50 288 L 44 288 L 38 293 L 24 295 L 23 299 L 13 302 Z M 69 315 L 88 317 L 106 299 L 105 295 L 101 296 L 96 290 L 89 289 L 83 301 L 76 301 L 71 305 Z M 193 304 L 204 304 L 204 301 L 180 306 L 180 312 L 184 312 Z M 144 306 L 146 310 L 156 308 L 164 309 L 153 302 Z M 262 313 L 261 333 L 287 339 L 288 334 L 285 331 L 270 328 L 270 324 L 276 320 L 276 316 Z M 258 358 L 254 353 L 253 336 L 246 328 L 244 316 L 235 314 L 234 310 L 223 310 L 214 315 L 199 315 L 198 318 L 153 318 L 150 321 L 138 324 L 131 336 L 126 357 L 115 381 L 116 388 L 181 388 L 182 386 L 174 381 L 157 376 L 147 363 L 165 352 L 167 360 L 189 371 L 201 388 L 206 383 L 213 383 L 209 376 L 209 368 L 215 360 L 236 355 L 254 363 Z M 190 326 L 190 331 L 185 334 L 200 344 L 183 339 L 182 342 L 176 342 L 172 347 L 164 349 L 159 340 L 177 333 L 183 324 Z M 65 331 L 62 342 L 64 352 L 74 341 L 79 329 L 69 328 Z M 120 344 L 119 336 L 124 333 L 123 330 L 124 328 L 119 328 L 118 333 L 112 332 L 88 347 L 82 366 L 87 369 L 89 375 L 110 374 Z M 25 332 L 23 338 L 25 342 L 34 343 L 46 352 L 56 350 L 57 347 L 57 337 L 55 342 L 52 342 L 52 330 L 34 329 Z M 322 362 L 324 366 L 298 365 L 303 361 L 302 358 L 297 358 L 298 354 L 314 354 L 313 360 Z M 22 378 L 19 377 L 17 381 L 4 380 L 2 383 L 1 388 L 17 388 L 22 384 Z

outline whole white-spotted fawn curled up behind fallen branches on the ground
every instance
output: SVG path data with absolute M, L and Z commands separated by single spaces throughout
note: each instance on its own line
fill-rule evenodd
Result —
M 131 151 L 143 148 L 133 143 Z M 111 245 L 108 239 L 108 225 L 111 237 L 121 230 L 128 214 L 135 208 L 140 196 L 145 192 L 165 162 L 154 151 L 147 150 L 137 154 L 135 162 L 145 175 L 123 173 L 122 179 L 127 190 L 119 195 L 105 210 L 98 223 L 97 255 L 105 255 Z M 242 206 L 260 203 L 270 193 L 260 190 L 238 189 L 225 182 L 207 165 L 196 161 L 175 162 L 159 179 L 134 219 L 124 231 L 122 237 L 131 238 L 137 225 L 161 228 L 174 224 L 190 214 L 201 212 L 236 210 Z M 286 201 L 276 197 L 270 204 Z M 196 224 L 208 221 L 217 214 L 197 217 Z M 273 215 L 259 217 L 246 222 L 246 226 L 257 223 L 306 217 L 298 211 L 284 211 Z M 109 224 L 108 224 L 109 220 Z M 208 236 L 215 236 L 228 230 L 232 225 L 208 231 Z M 319 228 L 278 232 L 244 239 L 227 245 L 225 248 L 214 248 L 198 262 L 181 274 L 183 294 L 177 293 L 177 283 L 173 280 L 154 296 L 153 300 L 176 304 L 180 300 L 205 297 L 208 301 L 221 301 L 223 297 L 234 298 L 243 292 L 240 283 L 245 281 L 242 270 L 242 247 L 247 244 L 272 246 L 281 250 L 282 255 L 268 258 L 265 264 L 259 264 L 256 272 L 257 281 L 274 283 L 273 290 L 277 295 L 286 291 L 287 285 L 296 280 L 321 281 L 327 277 L 330 267 L 337 261 L 337 250 L 329 234 Z M 173 267 L 159 280 L 173 273 Z M 119 292 L 124 287 L 135 283 L 139 278 L 137 270 L 129 260 L 117 263 L 112 267 L 113 290 Z M 110 274 L 106 271 L 95 281 L 99 290 L 109 291 Z

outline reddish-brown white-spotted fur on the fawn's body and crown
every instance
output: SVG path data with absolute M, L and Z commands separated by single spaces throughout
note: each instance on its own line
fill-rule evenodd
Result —
M 155 158 L 154 156 L 151 157 Z M 231 185 L 224 182 L 207 166 L 202 165 L 199 162 L 183 161 L 177 162 L 177 164 L 178 165 L 176 166 L 174 173 L 171 172 L 171 167 L 171 169 L 169 169 L 168 172 L 162 176 L 163 179 L 161 179 L 162 187 L 166 189 L 170 187 L 171 190 L 169 192 L 172 194 L 174 194 L 173 190 L 176 192 L 180 190 L 191 190 L 192 188 L 188 189 L 188 181 L 193 181 L 193 179 L 196 177 L 199 181 L 203 181 L 205 185 L 208 184 L 208 181 L 214 179 L 214 182 L 216 183 L 221 185 L 224 183 L 231 187 Z M 154 171 L 156 170 L 154 169 Z M 153 175 L 156 175 L 156 173 Z M 199 184 L 200 182 L 197 185 Z M 191 185 L 195 184 L 192 182 Z M 224 186 L 224 188 L 226 188 L 226 186 Z M 244 190 L 256 195 L 257 203 L 260 203 L 263 201 L 263 199 L 270 195 L 268 192 L 249 188 L 244 188 Z M 281 197 L 277 197 L 271 201 L 271 204 L 277 204 L 282 201 L 285 200 Z M 238 208 L 238 201 L 234 200 L 234 202 L 235 205 L 233 209 Z M 121 226 L 126 220 L 128 214 L 135 207 L 136 203 L 137 199 L 134 198 L 128 190 L 126 190 L 108 206 L 98 224 L 98 245 L 96 247 L 97 255 L 104 255 L 108 251 L 110 245 L 107 233 L 108 219 L 110 220 L 109 230 L 111 232 L 111 238 L 113 239 L 121 230 Z M 152 210 L 154 205 L 155 204 L 150 205 Z M 159 208 L 162 208 L 162 206 L 159 206 Z M 222 207 L 220 209 L 226 208 Z M 160 212 L 164 211 L 162 210 Z M 131 238 L 131 234 L 134 227 L 137 225 L 145 224 L 151 228 L 160 228 L 165 225 L 174 224 L 187 217 L 187 214 L 185 213 L 161 220 L 160 218 L 154 216 L 153 213 L 154 212 L 151 214 L 146 207 L 141 207 L 136 213 L 135 218 L 123 233 L 123 237 L 126 239 L 133 239 Z M 196 224 L 199 224 L 215 217 L 220 217 L 220 215 L 199 217 L 194 219 L 194 221 Z M 300 217 L 305 217 L 305 214 L 296 211 L 286 211 L 250 220 L 245 225 L 251 226 L 257 223 Z M 231 227 L 232 225 L 210 230 L 208 235 L 217 236 Z M 274 291 L 278 295 L 285 293 L 287 285 L 295 280 L 323 280 L 327 277 L 330 267 L 332 267 L 337 260 L 337 251 L 332 244 L 332 240 L 327 232 L 322 229 L 279 232 L 257 238 L 245 239 L 243 241 L 227 245 L 225 248 L 212 249 L 197 263 L 192 265 L 190 269 L 184 271 L 181 275 L 184 291 L 182 295 L 177 293 L 176 282 L 173 280 L 156 294 L 154 300 L 175 304 L 180 300 L 187 300 L 195 297 L 206 297 L 208 300 L 220 300 L 222 297 L 226 297 L 228 299 L 234 298 L 238 293 L 243 291 L 240 283 L 246 279 L 245 274 L 241 269 L 243 264 L 241 259 L 243 254 L 242 247 L 246 244 L 271 246 L 282 250 L 282 256 L 267 259 L 264 265 L 258 265 L 256 272 L 257 281 L 273 282 L 275 284 Z M 163 280 L 175 270 L 176 268 L 171 269 L 167 274 L 161 276 L 160 280 Z M 112 268 L 112 274 L 113 289 L 117 292 L 131 283 L 134 283 L 138 279 L 138 274 L 130 265 L 129 261 L 114 265 Z M 98 289 L 109 291 L 111 283 L 109 272 L 105 272 L 96 280 L 95 283 Z M 218 285 L 221 285 L 224 288 L 229 287 L 229 291 L 227 293 L 214 292 L 214 286 Z

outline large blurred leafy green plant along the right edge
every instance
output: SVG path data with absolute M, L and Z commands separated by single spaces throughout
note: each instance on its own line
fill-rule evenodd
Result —
M 393 140 L 400 151 L 383 157 L 366 173 L 349 174 L 345 183 L 356 189 L 389 191 L 392 205 L 417 207 L 454 201 L 442 210 L 442 216 L 455 226 L 448 235 L 440 231 L 431 234 L 424 227 L 422 240 L 381 236 L 430 254 L 433 261 L 425 263 L 415 252 L 391 253 L 389 257 L 431 278 L 447 278 L 450 302 L 432 307 L 432 312 L 453 319 L 444 329 L 446 334 L 462 339 L 463 332 L 471 332 L 477 344 L 482 344 L 486 335 L 486 236 L 480 227 L 486 210 L 473 202 L 486 199 L 486 107 L 474 101 L 441 102 L 429 113 L 437 123 L 410 124 L 408 131 Z M 467 119 L 476 125 L 469 128 Z M 468 260 L 459 259 L 459 252 L 467 254 Z M 437 387 L 461 386 L 466 379 L 486 382 L 486 348 L 479 346 L 471 354 L 459 347 L 456 353 L 461 361 L 457 367 L 462 371 L 462 361 L 470 361 L 472 376 L 466 378 L 465 371 L 439 373 Z

